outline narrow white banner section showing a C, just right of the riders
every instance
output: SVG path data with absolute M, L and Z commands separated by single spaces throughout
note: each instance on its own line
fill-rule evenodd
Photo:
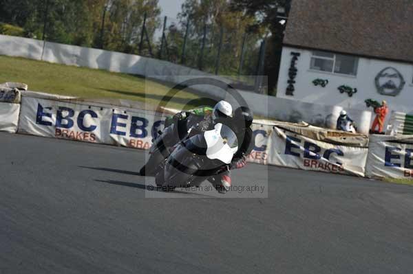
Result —
M 266 165 L 268 164 L 268 151 L 270 150 L 268 141 L 273 132 L 273 126 L 253 124 L 252 129 L 255 145 L 251 154 L 248 155 L 248 162 Z

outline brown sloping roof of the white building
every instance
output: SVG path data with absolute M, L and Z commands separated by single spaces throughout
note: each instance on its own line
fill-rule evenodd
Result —
M 284 44 L 413 62 L 413 0 L 293 0 Z

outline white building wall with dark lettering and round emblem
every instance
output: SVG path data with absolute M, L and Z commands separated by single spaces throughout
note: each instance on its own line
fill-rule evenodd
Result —
M 299 52 L 301 54 L 296 62 L 298 71 L 295 78 L 296 83 L 294 84 L 294 96 L 286 95 L 288 69 L 290 68 L 291 58 L 293 57 L 290 55 L 291 52 Z M 310 50 L 284 47 L 281 69 L 279 71 L 277 97 L 359 110 L 367 110 L 366 104 L 364 103 L 366 99 L 373 99 L 379 102 L 386 100 L 390 111 L 413 113 L 413 64 L 359 58 L 357 76 L 346 76 L 311 70 L 311 56 L 312 51 Z M 377 91 L 374 83 L 374 78 L 385 67 L 394 67 L 397 69 L 406 82 L 402 91 L 395 97 L 381 95 Z M 313 80 L 317 78 L 327 79 L 327 86 L 324 88 L 320 86 L 315 87 Z M 357 88 L 357 93 L 352 95 L 352 97 L 349 97 L 347 93 L 339 93 L 337 88 L 342 84 Z M 370 110 L 372 109 L 370 108 Z M 390 117 L 390 115 L 388 116 Z

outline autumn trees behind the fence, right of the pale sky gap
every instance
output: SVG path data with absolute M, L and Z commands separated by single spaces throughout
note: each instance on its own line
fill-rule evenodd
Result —
M 220 54 L 220 73 L 235 75 L 240 65 L 240 55 L 244 34 L 253 18 L 242 17 L 242 12 L 230 9 L 228 0 L 187 0 L 182 4 L 182 12 L 178 15 L 182 36 L 189 20 L 189 39 L 187 45 L 186 65 L 199 67 L 204 30 L 207 30 L 207 43 L 202 52 L 202 67 L 215 71 L 215 61 L 220 47 L 222 32 L 222 48 Z M 251 47 L 257 47 L 257 41 L 248 39 Z

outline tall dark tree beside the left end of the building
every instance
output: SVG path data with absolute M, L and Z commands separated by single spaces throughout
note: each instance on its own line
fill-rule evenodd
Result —
M 265 74 L 268 76 L 268 90 L 275 93 L 277 87 L 279 63 L 281 62 L 282 41 L 285 25 L 279 23 L 277 9 L 284 7 L 286 14 L 290 10 L 291 0 L 231 0 L 231 8 L 243 12 L 244 16 L 255 18 L 251 30 L 266 27 L 270 31 L 266 46 Z M 275 94 L 274 94 L 275 95 Z

